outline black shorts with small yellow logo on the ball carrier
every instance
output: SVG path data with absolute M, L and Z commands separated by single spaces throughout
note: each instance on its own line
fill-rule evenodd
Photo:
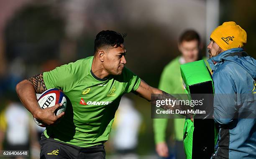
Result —
M 64 142 L 47 139 L 44 133 L 41 135 L 40 159 L 105 159 L 104 145 L 93 147 L 77 147 Z

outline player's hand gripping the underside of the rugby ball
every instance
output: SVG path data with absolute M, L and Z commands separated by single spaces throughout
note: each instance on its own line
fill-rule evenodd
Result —
M 37 112 L 37 114 L 34 117 L 46 125 L 52 125 L 64 115 L 64 112 L 62 112 L 59 115 L 54 114 L 55 110 L 61 106 L 62 106 L 62 103 L 59 103 L 54 105 L 53 107 L 41 109 L 40 111 Z

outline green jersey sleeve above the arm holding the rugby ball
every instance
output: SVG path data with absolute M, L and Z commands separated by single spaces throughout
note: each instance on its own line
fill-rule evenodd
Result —
M 78 70 L 73 66 L 73 63 L 56 67 L 49 72 L 44 72 L 43 78 L 46 88 L 59 88 L 64 92 L 68 92 L 77 84 L 77 80 L 79 80 L 77 72 Z

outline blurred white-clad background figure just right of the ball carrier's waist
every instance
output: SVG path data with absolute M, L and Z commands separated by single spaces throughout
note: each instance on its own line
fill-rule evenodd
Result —
M 110 143 L 117 154 L 116 159 L 138 159 L 138 132 L 141 126 L 141 114 L 134 103 L 123 96 L 112 126 Z

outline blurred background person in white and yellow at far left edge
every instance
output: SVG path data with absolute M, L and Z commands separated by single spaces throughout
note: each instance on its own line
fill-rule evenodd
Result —
M 31 159 L 37 159 L 40 145 L 37 140 L 36 123 L 19 102 L 15 92 L 5 92 L 6 107 L 0 113 L 0 149 L 30 151 Z M 36 151 L 35 151 L 36 150 Z M 26 157 L 11 157 L 23 159 Z

